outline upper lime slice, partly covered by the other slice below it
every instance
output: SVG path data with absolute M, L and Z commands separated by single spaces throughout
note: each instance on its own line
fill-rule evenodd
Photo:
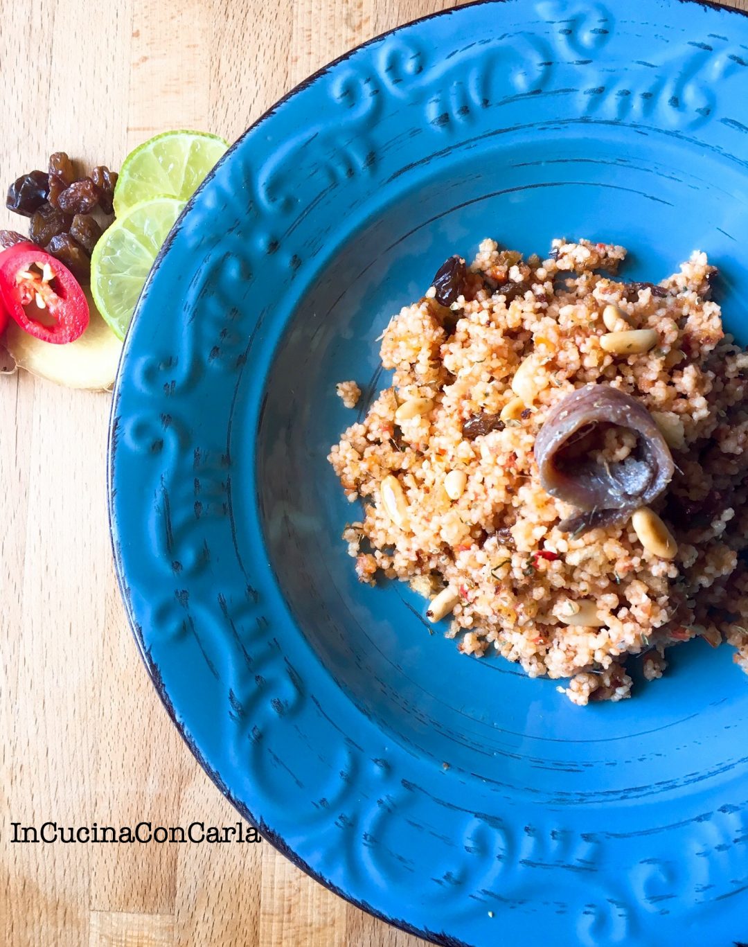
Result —
M 119 170 L 116 216 L 154 197 L 188 201 L 227 148 L 223 138 L 206 132 L 164 132 L 149 138 Z

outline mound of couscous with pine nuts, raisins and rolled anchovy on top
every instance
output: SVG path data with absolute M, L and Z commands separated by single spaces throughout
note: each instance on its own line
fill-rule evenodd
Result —
M 344 533 L 361 581 L 409 582 L 461 652 L 567 678 L 579 705 L 628 697 L 631 655 L 657 678 L 696 635 L 748 670 L 748 353 L 703 253 L 659 285 L 615 279 L 625 255 L 486 240 L 448 259 L 329 455 L 363 500 Z

